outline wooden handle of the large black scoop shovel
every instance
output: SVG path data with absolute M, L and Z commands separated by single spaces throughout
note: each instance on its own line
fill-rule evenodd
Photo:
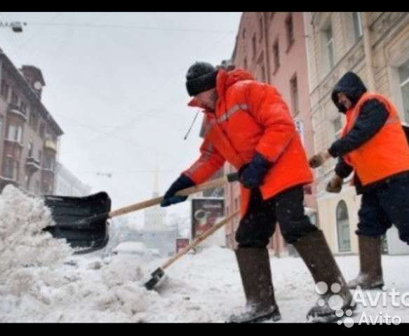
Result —
M 193 186 L 193 187 L 190 187 L 190 188 L 179 190 L 175 195 L 189 196 L 189 195 L 192 195 L 194 193 L 199 193 L 199 191 L 213 189 L 213 188 L 216 188 L 216 187 L 223 186 L 227 182 L 234 182 L 234 181 L 239 181 L 239 174 L 238 173 L 228 174 L 226 176 L 220 177 L 219 179 L 215 179 L 215 180 L 212 180 L 212 181 L 208 181 L 208 182 L 199 184 L 199 186 Z M 131 205 L 128 205 L 128 207 L 123 207 L 121 209 L 116 209 L 114 211 L 109 212 L 108 216 L 109 216 L 109 218 L 113 218 L 113 217 L 116 217 L 116 216 L 129 214 L 130 212 L 133 212 L 133 211 L 138 211 L 138 210 L 141 210 L 141 209 L 153 207 L 156 204 L 160 204 L 162 202 L 162 200 L 163 200 L 163 196 L 153 198 L 152 200 L 147 200 L 147 201 L 144 201 L 144 202 L 131 204 Z

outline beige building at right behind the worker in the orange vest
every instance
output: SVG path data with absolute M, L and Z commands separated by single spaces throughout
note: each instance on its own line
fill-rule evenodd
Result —
M 315 152 L 327 149 L 339 137 L 344 116 L 337 112 L 330 94 L 347 71 L 361 76 L 368 90 L 387 95 L 403 121 L 409 122 L 409 15 L 388 12 L 307 12 L 307 58 Z M 319 225 L 335 254 L 357 253 L 354 231 L 361 197 L 352 186 L 340 194 L 325 192 L 335 160 L 316 169 Z M 407 253 L 387 234 L 389 253 Z

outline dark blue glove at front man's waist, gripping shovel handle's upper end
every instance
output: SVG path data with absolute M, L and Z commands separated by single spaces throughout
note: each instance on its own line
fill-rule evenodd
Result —
M 240 182 L 248 189 L 261 186 L 270 166 L 269 160 L 260 153 L 255 153 L 250 163 L 239 169 Z

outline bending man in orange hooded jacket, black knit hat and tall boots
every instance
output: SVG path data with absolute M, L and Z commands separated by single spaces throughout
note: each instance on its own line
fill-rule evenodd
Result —
M 347 309 L 351 293 L 328 248 L 321 230 L 304 214 L 303 186 L 313 177 L 287 104 L 272 85 L 253 79 L 242 69 L 216 69 L 196 62 L 187 71 L 187 92 L 205 113 L 201 155 L 170 186 L 162 206 L 187 197 L 178 190 L 203 183 L 224 162 L 231 163 L 241 181 L 241 221 L 236 232 L 236 258 L 248 309 L 232 322 L 278 320 L 267 244 L 276 221 L 288 244 L 293 244 L 316 283 L 338 283 Z M 313 321 L 337 318 L 328 304 L 328 293 L 307 314 Z M 326 299 L 326 300 L 322 300 Z M 325 302 L 322 304 L 322 302 Z

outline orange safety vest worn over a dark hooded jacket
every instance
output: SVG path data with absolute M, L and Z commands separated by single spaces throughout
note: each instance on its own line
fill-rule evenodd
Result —
M 363 186 L 381 181 L 394 174 L 409 171 L 409 145 L 401 121 L 394 104 L 381 94 L 366 92 L 356 105 L 347 111 L 347 124 L 342 130 L 342 137 L 352 130 L 363 104 L 370 99 L 382 102 L 389 117 L 374 137 L 356 150 L 344 155 L 345 162 L 354 167 Z

